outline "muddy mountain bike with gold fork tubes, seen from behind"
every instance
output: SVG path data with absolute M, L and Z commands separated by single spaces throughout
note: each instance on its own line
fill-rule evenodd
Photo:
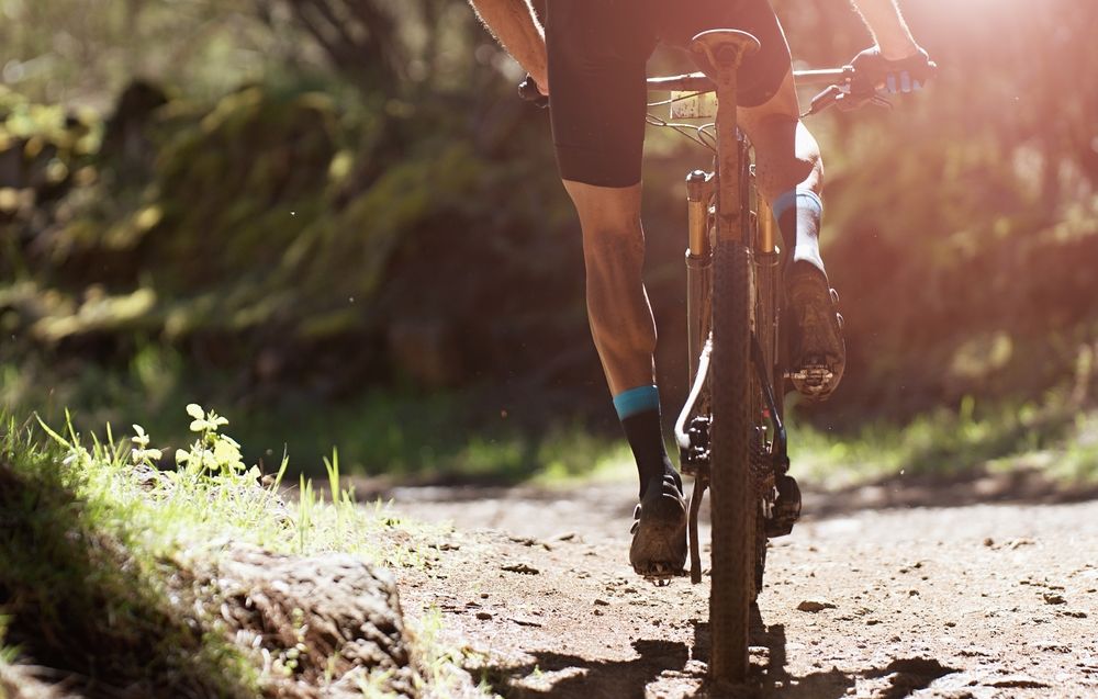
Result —
M 786 370 L 777 224 L 755 188 L 751 144 L 737 127 L 736 110 L 720 109 L 737 103 L 737 69 L 759 47 L 746 32 L 703 32 L 691 50 L 707 72 L 648 80 L 649 91 L 672 93 L 649 106 L 670 105 L 672 119 L 716 117 L 697 126 L 652 114 L 648 121 L 714 151 L 709 171 L 686 177 L 691 390 L 674 433 L 681 471 L 695 480 L 688 507 L 695 584 L 702 582 L 698 510 L 706 489 L 713 492 L 709 675 L 733 681 L 748 673 L 750 609 L 762 587 L 766 541 L 788 534 L 800 516 L 783 421 L 787 382 L 822 379 Z M 843 99 L 853 68 L 794 75 L 798 84 L 830 84 L 813 100 L 808 114 L 815 114 Z M 519 93 L 547 102 L 529 78 Z

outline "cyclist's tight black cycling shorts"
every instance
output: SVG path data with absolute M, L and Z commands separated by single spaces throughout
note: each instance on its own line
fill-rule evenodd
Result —
M 792 59 L 769 0 L 548 0 L 549 111 L 563 179 L 640 181 L 648 57 L 657 42 L 686 48 L 710 29 L 743 30 L 762 44 L 740 68 L 740 105 L 774 97 Z

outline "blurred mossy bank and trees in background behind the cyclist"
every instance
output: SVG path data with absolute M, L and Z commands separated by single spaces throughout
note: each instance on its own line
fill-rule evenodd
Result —
M 8 405 L 96 404 L 71 386 L 104 372 L 103 403 L 192 392 L 323 416 L 312 406 L 446 387 L 472 406 L 457 410 L 467 430 L 501 406 L 526 427 L 608 421 L 545 115 L 514 99 L 516 66 L 464 3 L 87 4 L 100 11 L 78 22 L 71 2 L 0 2 L 18 20 L 0 25 Z M 774 4 L 802 65 L 869 43 L 844 2 Z M 1055 387 L 1085 410 L 1098 83 L 1075 67 L 1098 61 L 1098 9 L 903 4 L 934 83 L 893 112 L 809 123 L 850 359 L 832 402 L 798 411 L 856 435 L 973 395 L 988 419 Z M 378 52 L 383 65 L 356 68 Z M 670 53 L 651 65 L 687 67 Z M 706 158 L 650 136 L 649 289 L 673 403 L 680 182 Z M 172 371 L 139 377 L 152 356 Z

